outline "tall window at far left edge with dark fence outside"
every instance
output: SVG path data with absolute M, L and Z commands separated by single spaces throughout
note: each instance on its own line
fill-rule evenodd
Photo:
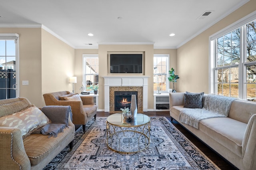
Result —
M 18 34 L 0 34 L 0 99 L 18 97 Z

